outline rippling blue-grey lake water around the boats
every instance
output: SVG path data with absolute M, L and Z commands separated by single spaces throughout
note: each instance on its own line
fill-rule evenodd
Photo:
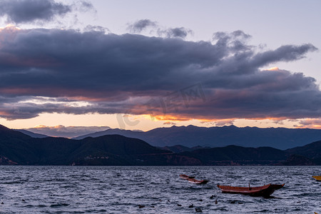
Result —
M 320 166 L 0 166 L 0 171 L 0 213 L 196 213 L 195 208 L 321 213 L 321 182 L 312 178 L 321 175 Z M 191 184 L 180 173 L 210 182 Z M 272 198 L 253 198 L 221 193 L 217 183 L 285 187 Z

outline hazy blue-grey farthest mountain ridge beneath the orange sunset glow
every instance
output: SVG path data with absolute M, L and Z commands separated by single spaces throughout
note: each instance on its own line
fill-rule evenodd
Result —
M 189 148 L 194 146 L 223 147 L 235 145 L 245 147 L 270 146 L 272 148 L 287 149 L 296 146 L 305 146 L 307 143 L 321 140 L 321 130 L 319 129 L 238 128 L 236 126 L 210 128 L 172 126 L 170 128 L 155 128 L 146 132 L 116 128 L 88 134 L 86 136 L 79 136 L 75 139 L 110 134 L 119 134 L 128 138 L 139 138 L 157 147 L 181 145 Z

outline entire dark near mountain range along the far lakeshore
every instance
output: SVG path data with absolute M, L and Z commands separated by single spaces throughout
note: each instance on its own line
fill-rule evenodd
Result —
M 176 149 L 173 152 L 173 149 Z M 106 135 L 80 140 L 32 138 L 0 125 L 0 165 L 321 165 L 321 141 L 280 150 L 156 148 L 138 138 Z

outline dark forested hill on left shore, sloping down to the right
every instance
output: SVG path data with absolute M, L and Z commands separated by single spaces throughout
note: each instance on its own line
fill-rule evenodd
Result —
M 31 138 L 0 125 L 0 165 L 201 165 L 136 138 Z

